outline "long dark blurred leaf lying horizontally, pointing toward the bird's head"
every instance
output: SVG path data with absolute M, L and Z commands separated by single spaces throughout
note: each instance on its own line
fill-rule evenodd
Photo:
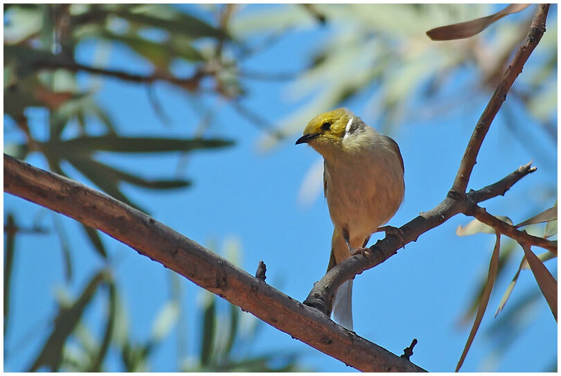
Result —
M 91 153 L 94 151 L 121 153 L 189 152 L 233 145 L 222 138 L 159 138 L 159 137 L 77 137 L 63 141 L 57 147 L 63 150 Z

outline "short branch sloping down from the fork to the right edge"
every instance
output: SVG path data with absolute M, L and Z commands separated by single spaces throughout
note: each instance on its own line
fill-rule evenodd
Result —
M 488 224 L 493 229 L 499 231 L 499 233 L 508 236 L 508 238 L 513 238 L 519 243 L 524 243 L 528 246 L 536 246 L 547 249 L 551 253 L 557 254 L 557 242 L 547 240 L 544 238 L 538 238 L 537 236 L 530 235 L 526 231 L 519 231 L 515 226 L 512 226 L 504 221 L 499 220 L 499 218 L 494 215 L 490 215 L 485 208 L 472 204 L 470 208 L 467 209 L 465 215 L 471 215 L 476 217 L 479 222 Z

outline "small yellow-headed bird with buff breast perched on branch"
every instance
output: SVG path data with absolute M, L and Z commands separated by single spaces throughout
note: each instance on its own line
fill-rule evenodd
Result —
M 405 191 L 398 144 L 369 127 L 348 109 L 319 114 L 296 145 L 308 143 L 323 156 L 323 193 L 333 222 L 328 271 L 357 253 L 368 253 L 372 233 L 398 211 Z M 395 234 L 394 234 L 395 235 Z M 337 289 L 335 321 L 353 330 L 353 280 Z

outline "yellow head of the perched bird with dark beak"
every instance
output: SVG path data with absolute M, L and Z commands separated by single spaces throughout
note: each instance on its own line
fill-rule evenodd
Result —
M 343 137 L 355 118 L 353 112 L 345 108 L 319 114 L 306 125 L 304 134 L 296 140 L 296 145 L 308 143 L 325 156 L 328 150 L 342 147 Z

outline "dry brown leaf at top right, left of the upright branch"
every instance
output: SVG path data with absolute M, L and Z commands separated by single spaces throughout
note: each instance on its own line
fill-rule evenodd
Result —
M 427 36 L 432 40 L 452 40 L 469 38 L 473 35 L 481 33 L 490 24 L 503 18 L 506 15 L 520 12 L 528 8 L 530 4 L 510 4 L 503 10 L 494 13 L 487 17 L 472 19 L 471 21 L 460 22 L 459 24 L 452 24 L 447 26 L 440 26 L 427 31 Z

